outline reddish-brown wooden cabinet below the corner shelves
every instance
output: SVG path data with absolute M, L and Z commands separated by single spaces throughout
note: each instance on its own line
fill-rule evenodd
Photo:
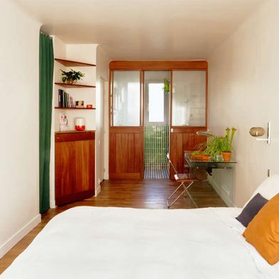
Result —
M 56 205 L 95 194 L 95 132 L 56 132 Z

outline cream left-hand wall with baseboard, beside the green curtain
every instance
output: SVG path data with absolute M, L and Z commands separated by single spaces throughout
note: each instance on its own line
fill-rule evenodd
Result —
M 12 1 L 0 10 L 0 258 L 41 221 L 38 186 L 40 23 Z

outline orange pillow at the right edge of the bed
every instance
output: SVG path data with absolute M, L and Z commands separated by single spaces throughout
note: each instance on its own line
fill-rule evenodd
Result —
M 279 261 L 279 194 L 258 211 L 243 236 L 270 265 Z

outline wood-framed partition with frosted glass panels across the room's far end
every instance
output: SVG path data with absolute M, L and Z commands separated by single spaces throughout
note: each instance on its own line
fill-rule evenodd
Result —
M 162 134 L 158 126 L 167 126 L 166 133 L 169 132 L 169 137 L 163 138 L 169 139 L 166 142 L 169 147 L 155 154 L 164 158 L 169 149 L 170 158 L 177 172 L 184 172 L 184 151 L 192 151 L 197 144 L 206 141 L 206 138 L 196 135 L 196 132 L 207 129 L 207 68 L 207 62 L 204 60 L 110 62 L 110 179 L 144 179 L 144 156 L 148 154 L 147 149 L 144 152 L 144 148 L 148 145 L 147 140 L 144 142 L 147 126 L 155 126 L 152 130 L 154 137 L 149 137 L 148 147 L 152 147 L 150 142 L 154 142 L 154 139 L 158 139 L 158 134 Z M 167 74 L 167 78 L 170 76 L 170 93 L 167 99 L 169 111 L 164 107 L 164 122 L 152 119 L 147 121 L 144 117 L 152 116 L 152 112 L 149 112 L 152 105 L 149 107 L 149 100 L 147 104 L 145 103 L 149 97 L 145 87 L 149 80 L 150 83 L 154 83 L 152 85 L 154 87 L 156 83 L 161 83 L 157 86 L 162 88 L 164 76 L 159 80 L 156 76 L 160 72 Z M 162 111 L 160 113 L 162 115 Z M 165 119 L 167 115 L 168 121 Z M 152 162 L 146 161 L 146 167 L 147 164 L 150 166 Z M 170 169 L 169 177 L 173 177 L 173 174 L 173 170 Z

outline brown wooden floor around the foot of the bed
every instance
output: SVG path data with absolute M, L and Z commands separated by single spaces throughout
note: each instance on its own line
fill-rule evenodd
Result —
M 50 209 L 43 214 L 41 223 L 33 228 L 14 248 L 0 260 L 0 274 L 9 267 L 12 261 L 24 251 L 33 238 L 42 230 L 53 216 L 74 206 L 117 206 L 134 207 L 137 209 L 167 209 L 167 196 L 177 187 L 175 181 L 154 179 L 140 181 L 104 181 L 102 191 L 97 197 L 78 201 L 73 204 Z M 214 189 L 207 182 L 198 182 L 191 186 L 191 196 L 199 207 L 226 206 Z M 194 208 L 187 197 L 181 197 L 172 209 Z

